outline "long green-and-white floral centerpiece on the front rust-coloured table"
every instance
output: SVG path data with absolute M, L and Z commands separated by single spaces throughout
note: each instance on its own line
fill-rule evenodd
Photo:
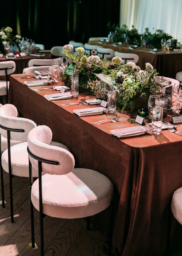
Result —
M 141 70 L 133 62 L 121 64 L 121 57 L 113 57 L 110 61 L 97 55 L 87 56 L 83 47 L 78 47 L 77 54 L 73 56 L 72 47 L 71 44 L 63 47 L 70 60 L 63 75 L 79 72 L 79 85 L 89 91 L 104 90 L 105 84 L 109 84 L 116 90 L 116 105 L 121 111 L 134 110 L 136 101 L 146 102 L 149 95 L 161 92 L 157 70 L 150 63 L 146 63 L 146 69 Z

